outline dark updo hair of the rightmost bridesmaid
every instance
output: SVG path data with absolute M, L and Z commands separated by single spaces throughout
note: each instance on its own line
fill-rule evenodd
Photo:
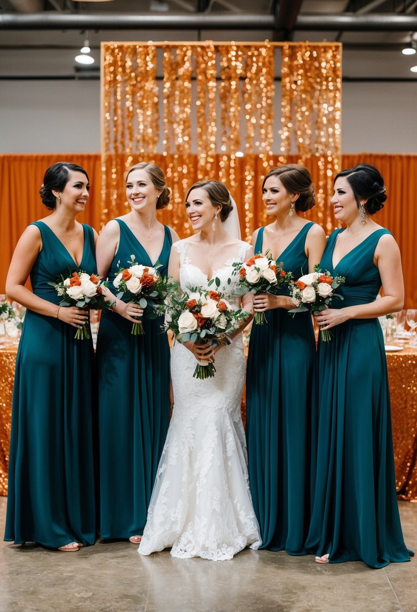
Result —
M 386 200 L 384 179 L 374 166 L 358 163 L 354 168 L 336 174 L 334 182 L 339 176 L 344 176 L 352 187 L 358 208 L 360 198 L 366 200 L 365 208 L 369 215 L 374 215 L 384 207 L 383 203 Z

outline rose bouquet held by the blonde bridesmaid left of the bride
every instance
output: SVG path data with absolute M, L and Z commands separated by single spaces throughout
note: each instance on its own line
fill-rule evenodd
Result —
M 158 274 L 158 269 L 162 264 L 156 263 L 155 266 L 144 266 L 135 261 L 135 255 L 130 256 L 129 267 L 119 267 L 117 276 L 113 281 L 116 289 L 119 289 L 117 299 L 126 296 L 129 302 L 139 304 L 141 308 L 146 308 L 149 302 L 152 309 L 147 313 L 150 319 L 161 314 L 161 305 L 167 293 L 167 282 Z M 134 323 L 131 334 L 137 336 L 144 333 L 142 321 Z

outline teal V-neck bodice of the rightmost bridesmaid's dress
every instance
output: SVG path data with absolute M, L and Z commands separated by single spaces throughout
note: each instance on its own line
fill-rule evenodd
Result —
M 374 264 L 374 253 L 381 236 L 389 234 L 388 230 L 376 230 L 364 241 L 352 248 L 333 267 L 333 251 L 336 240 L 343 230 L 335 230 L 329 237 L 320 266 L 331 274 L 345 277 L 344 285 L 339 286 L 338 293 L 344 300 L 333 300 L 332 308 L 343 308 L 356 304 L 367 304 L 375 300 L 381 288 L 381 277 Z

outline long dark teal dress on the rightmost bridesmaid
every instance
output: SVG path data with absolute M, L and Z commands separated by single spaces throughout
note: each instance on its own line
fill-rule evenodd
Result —
M 321 267 L 346 278 L 332 308 L 368 304 L 381 287 L 374 265 L 377 230 L 333 267 L 336 230 Z M 306 547 L 330 563 L 364 561 L 380 568 L 409 561 L 396 498 L 393 436 L 383 333 L 375 319 L 350 319 L 319 340 L 318 453 Z

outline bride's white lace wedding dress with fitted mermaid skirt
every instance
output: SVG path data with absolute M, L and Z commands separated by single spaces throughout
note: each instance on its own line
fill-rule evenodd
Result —
M 207 276 L 186 255 L 186 241 L 175 243 L 175 248 L 180 255 L 181 287 L 207 287 Z M 227 285 L 227 278 L 233 261 L 243 261 L 247 249 L 248 244 L 240 242 L 236 258 L 215 272 L 221 280 L 218 291 L 231 296 L 236 308 L 234 283 Z M 214 378 L 193 378 L 195 367 L 193 354 L 175 342 L 171 355 L 174 412 L 138 551 L 150 554 L 172 547 L 175 557 L 224 561 L 261 543 L 240 415 L 246 371 L 242 334 L 216 353 Z

